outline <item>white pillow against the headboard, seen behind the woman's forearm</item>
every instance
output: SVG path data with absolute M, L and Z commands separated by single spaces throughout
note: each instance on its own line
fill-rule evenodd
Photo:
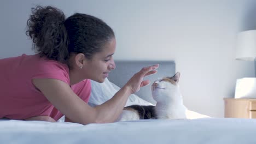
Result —
M 88 104 L 96 106 L 104 103 L 114 96 L 119 91 L 120 87 L 110 82 L 107 78 L 103 83 L 98 83 L 91 80 L 91 97 Z M 153 105 L 146 100 L 139 98 L 135 94 L 131 94 L 125 106 L 129 105 Z

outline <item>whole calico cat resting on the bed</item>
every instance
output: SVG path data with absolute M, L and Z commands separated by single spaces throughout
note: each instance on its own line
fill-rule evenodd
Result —
M 183 105 L 182 94 L 179 91 L 179 76 L 177 72 L 172 77 L 163 77 L 154 81 L 151 86 L 152 96 L 156 105 L 131 105 L 124 107 L 118 121 L 138 119 L 184 119 L 187 108 Z

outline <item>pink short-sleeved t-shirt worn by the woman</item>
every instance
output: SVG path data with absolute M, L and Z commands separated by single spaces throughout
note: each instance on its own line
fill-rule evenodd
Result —
M 38 54 L 22 55 L 0 59 L 0 69 L 0 118 L 50 116 L 57 121 L 63 116 L 33 85 L 32 79 L 57 79 L 69 85 L 69 70 L 66 64 L 40 58 Z M 91 94 L 90 80 L 76 83 L 71 89 L 88 103 Z

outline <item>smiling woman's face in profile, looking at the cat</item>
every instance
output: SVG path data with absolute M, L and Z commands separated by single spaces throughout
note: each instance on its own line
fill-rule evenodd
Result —
M 115 69 L 113 54 L 115 52 L 115 39 L 107 43 L 101 52 L 95 53 L 90 60 L 86 60 L 84 74 L 88 79 L 104 82 L 111 70 Z

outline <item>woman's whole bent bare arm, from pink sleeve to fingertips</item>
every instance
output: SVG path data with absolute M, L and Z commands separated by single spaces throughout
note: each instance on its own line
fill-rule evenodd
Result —
M 143 68 L 135 74 L 126 85 L 118 91 L 112 99 L 102 105 L 91 107 L 84 103 L 68 86 L 67 83 L 56 79 L 33 79 L 34 85 L 45 97 L 71 122 L 109 123 L 114 122 L 121 114 L 123 107 L 132 93 L 140 87 L 148 85 L 149 81 L 143 81 L 144 76 L 156 73 L 158 65 Z

